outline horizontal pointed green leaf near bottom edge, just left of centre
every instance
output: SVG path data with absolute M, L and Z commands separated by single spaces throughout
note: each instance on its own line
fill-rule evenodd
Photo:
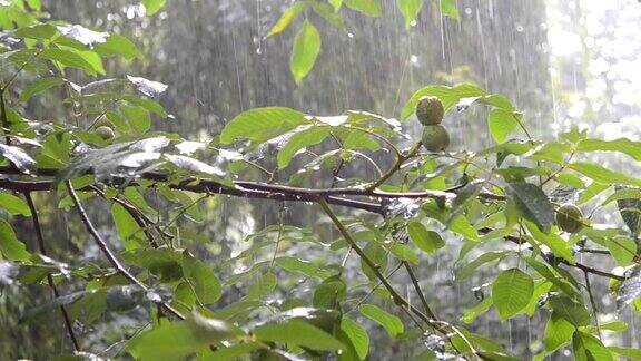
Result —
M 325 331 L 302 320 L 283 323 L 268 323 L 254 329 L 254 335 L 260 341 L 295 344 L 314 350 L 341 350 L 343 343 Z

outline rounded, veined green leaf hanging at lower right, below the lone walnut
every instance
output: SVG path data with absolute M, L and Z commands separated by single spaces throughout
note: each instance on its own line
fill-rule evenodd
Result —
M 502 320 L 523 310 L 534 293 L 534 281 L 519 269 L 503 271 L 492 285 L 492 300 Z

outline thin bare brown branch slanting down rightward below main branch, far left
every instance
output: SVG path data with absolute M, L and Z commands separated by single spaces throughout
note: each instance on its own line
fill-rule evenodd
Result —
M 78 211 L 78 214 L 80 215 L 80 218 L 82 219 L 82 223 L 85 224 L 85 226 L 87 227 L 87 231 L 89 231 L 89 233 L 93 237 L 93 241 L 96 241 L 96 245 L 98 245 L 100 251 L 102 251 L 102 253 L 105 254 L 105 256 L 107 257 L 107 260 L 109 261 L 111 266 L 114 266 L 114 269 L 116 269 L 116 272 L 120 273 L 125 279 L 129 280 L 131 283 L 138 285 L 144 291 L 149 291 L 149 287 L 146 284 L 138 281 L 138 279 L 136 279 L 136 276 L 134 276 L 129 271 L 127 271 L 127 269 L 122 265 L 122 263 L 120 263 L 120 261 L 118 261 L 118 258 L 116 257 L 116 254 L 114 254 L 114 252 L 109 248 L 109 246 L 107 245 L 107 242 L 105 242 L 105 240 L 102 240 L 102 237 L 100 236 L 100 234 L 98 233 L 98 231 L 96 230 L 96 227 L 93 226 L 91 221 L 89 219 L 89 215 L 87 215 L 87 212 L 82 207 L 82 204 L 80 203 L 80 199 L 78 198 L 78 195 L 76 194 L 76 191 L 73 191 L 73 186 L 71 185 L 71 182 L 67 180 L 66 184 L 67 184 L 67 191 L 69 192 L 69 196 L 71 197 L 71 201 L 73 201 L 73 205 L 76 206 L 76 209 Z M 185 320 L 185 316 L 180 312 L 178 312 L 178 310 L 174 309 L 168 303 L 162 302 L 162 301 L 154 301 L 154 302 L 157 305 L 159 305 L 160 308 L 168 311 L 169 313 L 174 314 L 176 318 L 178 318 L 180 320 Z

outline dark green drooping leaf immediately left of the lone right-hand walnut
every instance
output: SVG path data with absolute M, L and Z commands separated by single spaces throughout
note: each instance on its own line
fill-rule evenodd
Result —
M 554 223 L 554 208 L 540 187 L 530 183 L 510 183 L 507 194 L 516 202 L 525 219 L 534 222 L 542 232 L 550 232 Z

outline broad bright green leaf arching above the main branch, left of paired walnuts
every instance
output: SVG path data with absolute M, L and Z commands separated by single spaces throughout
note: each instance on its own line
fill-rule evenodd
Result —
M 220 133 L 220 142 L 229 144 L 245 138 L 259 144 L 309 123 L 303 113 L 294 109 L 284 107 L 254 108 L 243 111 L 229 120 Z

